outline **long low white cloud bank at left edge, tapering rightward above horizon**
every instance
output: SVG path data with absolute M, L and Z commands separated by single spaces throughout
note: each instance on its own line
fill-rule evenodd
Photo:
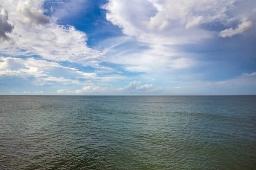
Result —
M 2 62 L 1 62 L 2 61 Z M 58 73 L 59 77 L 54 76 Z M 62 66 L 59 63 L 37 60 L 34 58 L 10 58 L 0 56 L 0 77 L 19 76 L 21 78 L 31 78 L 34 85 L 45 84 L 85 84 L 85 80 L 96 83 L 105 83 L 130 79 L 120 75 L 101 75 L 99 77 L 95 72 L 82 72 L 73 67 Z M 70 78 L 67 78 L 70 77 Z M 87 83 L 87 82 L 86 82 Z

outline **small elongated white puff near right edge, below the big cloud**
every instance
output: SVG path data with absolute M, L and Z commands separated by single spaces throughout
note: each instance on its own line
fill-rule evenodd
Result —
M 229 28 L 225 29 L 220 32 L 220 37 L 232 37 L 234 35 L 242 34 L 244 31 L 250 29 L 253 26 L 252 21 L 248 20 L 248 18 L 243 18 L 241 20 L 240 24 L 237 26 L 236 29 Z

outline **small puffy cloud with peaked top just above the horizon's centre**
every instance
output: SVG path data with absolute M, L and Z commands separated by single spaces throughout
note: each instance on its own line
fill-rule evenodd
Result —
M 119 88 L 119 90 L 126 92 L 145 92 L 147 90 L 150 90 L 153 86 L 153 84 L 145 84 L 143 86 L 139 86 L 140 83 L 140 81 L 133 81 L 129 85 L 123 88 Z

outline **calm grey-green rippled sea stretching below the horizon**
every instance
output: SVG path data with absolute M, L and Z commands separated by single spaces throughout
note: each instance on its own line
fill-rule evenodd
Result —
M 0 96 L 0 170 L 256 170 L 256 96 Z

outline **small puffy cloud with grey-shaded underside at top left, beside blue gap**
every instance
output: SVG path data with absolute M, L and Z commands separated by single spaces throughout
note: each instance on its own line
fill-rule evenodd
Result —
M 38 3 L 39 2 L 39 3 Z M 35 24 L 47 24 L 50 22 L 49 18 L 44 15 L 44 10 L 40 8 L 42 0 L 35 3 L 32 0 L 26 0 L 25 2 L 18 2 L 16 10 L 23 15 L 24 23 Z

